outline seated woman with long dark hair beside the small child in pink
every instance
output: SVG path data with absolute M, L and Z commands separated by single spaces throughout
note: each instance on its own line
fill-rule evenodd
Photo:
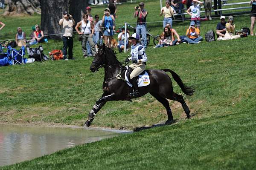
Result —
M 175 46 L 176 44 L 178 44 L 177 42 L 180 43 L 180 36 L 178 35 L 175 29 L 169 29 L 169 27 L 166 26 L 163 29 L 163 34 L 166 38 L 166 43 L 169 46 Z M 175 36 L 177 37 L 176 40 L 175 40 Z

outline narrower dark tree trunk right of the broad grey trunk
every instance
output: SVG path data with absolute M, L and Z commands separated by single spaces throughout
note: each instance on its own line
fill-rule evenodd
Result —
M 73 16 L 76 23 L 82 20 L 82 15 L 86 13 L 85 8 L 88 5 L 88 0 L 70 0 L 70 14 Z

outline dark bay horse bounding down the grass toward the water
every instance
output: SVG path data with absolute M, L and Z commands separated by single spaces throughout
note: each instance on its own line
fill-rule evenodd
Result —
M 99 112 L 107 101 L 131 101 L 130 95 L 128 94 L 131 92 L 132 87 L 128 86 L 125 82 L 125 66 L 122 66 L 122 63 L 117 60 L 113 50 L 106 47 L 105 44 L 102 46 L 98 45 L 98 47 L 99 50 L 90 66 L 90 70 L 96 72 L 99 68 L 104 67 L 105 76 L 102 84 L 103 94 L 90 110 L 88 120 L 84 123 L 84 127 L 90 126 L 96 113 Z M 150 84 L 148 86 L 139 87 L 140 96 L 150 93 L 157 99 L 157 101 L 163 104 L 168 115 L 166 124 L 171 124 L 173 121 L 172 111 L 167 99 L 180 102 L 186 113 L 186 117 L 189 118 L 189 107 L 186 105 L 182 95 L 173 92 L 171 78 L 166 72 L 172 74 L 172 77 L 186 95 L 193 95 L 194 89 L 183 84 L 180 77 L 170 69 L 148 69 L 146 71 L 150 78 Z

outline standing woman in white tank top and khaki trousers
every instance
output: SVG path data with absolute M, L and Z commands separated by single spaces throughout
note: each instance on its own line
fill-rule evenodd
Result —
M 78 29 L 79 27 L 81 27 L 80 31 Z M 90 44 L 90 48 L 93 56 L 95 56 L 95 53 L 96 53 L 95 43 L 93 42 L 94 26 L 93 26 L 93 22 L 88 20 L 88 14 L 83 14 L 83 20 L 81 20 L 76 24 L 75 29 L 79 35 L 82 35 L 81 44 L 82 44 L 82 52 L 83 52 L 84 58 L 87 58 L 87 48 L 86 48 L 87 42 Z

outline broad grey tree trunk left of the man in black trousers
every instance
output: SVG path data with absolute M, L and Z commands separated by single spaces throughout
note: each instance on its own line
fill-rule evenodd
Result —
M 58 24 L 63 12 L 68 12 L 69 0 L 41 0 L 41 29 L 48 38 L 59 39 L 61 26 Z M 58 34 L 58 35 L 52 35 Z

